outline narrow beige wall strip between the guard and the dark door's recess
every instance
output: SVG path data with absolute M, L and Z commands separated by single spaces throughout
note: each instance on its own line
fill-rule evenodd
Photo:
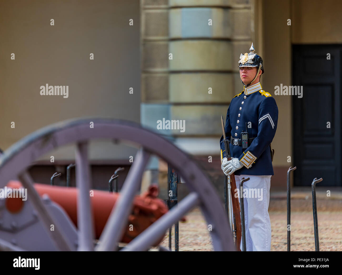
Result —
M 290 32 L 293 26 L 287 25 L 287 19 L 291 18 L 290 1 L 263 1 L 262 16 L 265 73 L 261 85 L 275 97 L 279 110 L 277 132 L 272 142 L 273 166 L 290 166 L 287 157 L 292 156 L 292 98 L 274 95 L 274 86 L 291 85 Z

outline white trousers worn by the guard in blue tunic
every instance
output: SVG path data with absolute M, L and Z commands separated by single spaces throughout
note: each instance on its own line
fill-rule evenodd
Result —
M 235 176 L 236 187 L 239 189 L 239 202 L 240 180 L 243 177 L 250 178 L 244 182 L 242 191 L 245 208 L 246 250 L 271 251 L 271 221 L 268 215 L 271 176 Z M 242 240 L 240 249 L 242 251 Z

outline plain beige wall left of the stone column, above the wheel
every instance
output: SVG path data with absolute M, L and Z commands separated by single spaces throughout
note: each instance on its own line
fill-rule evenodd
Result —
M 136 0 L 1 1 L 0 148 L 69 118 L 140 123 L 139 25 Z M 46 83 L 68 85 L 69 97 L 41 96 L 40 86 Z M 100 142 L 92 147 L 91 156 L 132 154 L 123 148 L 113 152 Z M 73 151 L 57 155 L 73 158 Z

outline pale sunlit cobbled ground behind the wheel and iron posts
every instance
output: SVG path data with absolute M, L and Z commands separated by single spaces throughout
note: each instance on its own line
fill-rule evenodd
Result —
M 271 251 L 287 251 L 286 211 L 270 211 L 272 228 Z M 199 208 L 186 215 L 179 223 L 180 251 L 213 251 L 208 227 Z M 161 245 L 168 247 L 167 231 Z M 320 251 L 342 251 L 342 211 L 318 211 Z M 172 228 L 174 249 L 174 228 Z M 154 250 L 154 249 L 152 249 Z M 291 251 L 315 251 L 312 211 L 291 212 Z

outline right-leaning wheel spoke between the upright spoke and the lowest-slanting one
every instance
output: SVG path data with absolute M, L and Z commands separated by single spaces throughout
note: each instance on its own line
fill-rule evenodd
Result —
M 110 216 L 100 237 L 100 244 L 96 247 L 97 251 L 112 251 L 117 247 L 122 236 L 126 221 L 132 210 L 133 199 L 141 185 L 141 178 L 150 153 L 140 149 L 135 155 L 133 165 L 122 186 L 120 197 Z

